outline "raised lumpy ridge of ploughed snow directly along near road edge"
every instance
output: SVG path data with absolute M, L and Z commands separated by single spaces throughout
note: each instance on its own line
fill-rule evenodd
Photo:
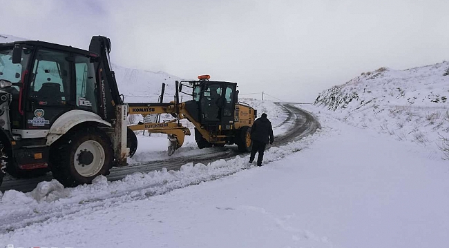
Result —
M 307 141 L 294 141 L 283 147 L 269 147 L 265 152 L 263 163 L 278 161 L 289 154 L 298 152 L 304 148 L 305 143 Z M 0 208 L 2 210 L 6 210 L 8 207 L 15 208 L 17 203 L 27 203 L 29 206 L 33 205 L 32 207 L 39 207 L 39 204 L 45 205 L 45 203 L 56 203 L 56 205 L 62 206 L 126 194 L 131 191 L 151 196 L 164 194 L 173 189 L 214 180 L 242 169 L 254 167 L 254 165 L 249 165 L 248 161 L 249 154 L 236 156 L 229 160 L 214 161 L 207 165 L 187 163 L 182 165 L 179 171 L 167 171 L 164 168 L 149 173 L 136 172 L 114 182 L 109 182 L 104 176 L 98 176 L 93 180 L 92 185 L 79 185 L 75 188 L 64 188 L 57 180 L 51 180 L 39 183 L 36 189 L 29 193 L 15 190 L 6 191 L 0 199 Z

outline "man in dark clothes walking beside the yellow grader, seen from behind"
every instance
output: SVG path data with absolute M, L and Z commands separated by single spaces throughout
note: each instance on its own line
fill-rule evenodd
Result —
M 263 113 L 260 118 L 254 121 L 251 127 L 251 140 L 253 141 L 253 149 L 251 150 L 249 163 L 253 163 L 256 152 L 258 152 L 257 165 L 262 166 L 265 146 L 268 144 L 268 141 L 270 145 L 274 141 L 273 127 L 271 127 L 271 122 L 267 119 L 267 114 Z

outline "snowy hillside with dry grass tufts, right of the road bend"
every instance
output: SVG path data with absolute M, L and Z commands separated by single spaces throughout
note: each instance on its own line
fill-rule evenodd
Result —
M 448 62 L 392 70 L 364 72 L 351 81 L 319 94 L 315 105 L 334 110 L 341 120 L 357 127 L 413 141 L 430 157 L 446 157 L 439 147 L 449 136 Z

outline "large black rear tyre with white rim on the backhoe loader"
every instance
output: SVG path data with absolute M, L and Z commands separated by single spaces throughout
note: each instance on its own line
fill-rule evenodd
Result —
M 50 149 L 53 177 L 65 187 L 75 187 L 107 176 L 113 163 L 111 141 L 95 127 L 76 130 L 59 138 Z

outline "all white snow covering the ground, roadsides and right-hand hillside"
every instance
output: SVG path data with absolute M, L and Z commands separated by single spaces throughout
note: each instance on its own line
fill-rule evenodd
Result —
M 269 147 L 262 167 L 243 154 L 73 189 L 52 180 L 8 190 L 0 247 L 447 247 L 447 68 L 379 68 L 323 91 L 316 105 L 298 105 L 322 129 Z M 267 112 L 275 138 L 291 128 L 282 107 L 241 101 Z M 138 138 L 131 163 L 166 158 L 164 135 Z M 173 156 L 205 152 L 188 136 Z

